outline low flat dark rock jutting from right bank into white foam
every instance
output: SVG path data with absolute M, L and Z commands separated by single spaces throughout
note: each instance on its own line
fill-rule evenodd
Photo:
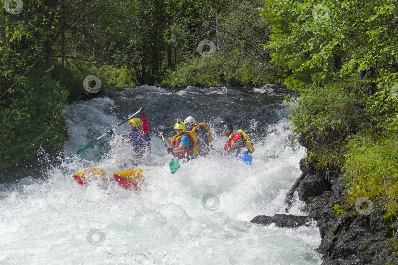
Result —
M 259 215 L 254 217 L 250 222 L 255 224 L 269 225 L 275 223 L 278 227 L 296 228 L 306 223 L 311 222 L 312 219 L 308 216 L 296 216 L 291 214 L 275 214 L 274 216 Z

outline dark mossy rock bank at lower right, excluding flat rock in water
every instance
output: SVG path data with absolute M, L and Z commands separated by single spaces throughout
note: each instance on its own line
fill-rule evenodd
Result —
M 361 212 L 361 208 L 358 212 L 345 200 L 341 172 L 311 172 L 309 176 L 316 174 L 324 177 L 330 189 L 310 201 L 304 200 L 304 210 L 318 222 L 322 241 L 316 251 L 322 255 L 322 265 L 398 264 L 398 238 L 384 223 L 385 211 L 374 204 L 371 209 Z M 307 182 L 315 185 L 319 179 L 310 178 Z M 302 198 L 311 197 L 310 194 L 313 193 L 304 193 Z

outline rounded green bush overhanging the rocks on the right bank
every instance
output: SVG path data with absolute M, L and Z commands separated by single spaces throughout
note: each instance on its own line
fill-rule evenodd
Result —
M 301 93 L 291 111 L 291 139 L 306 147 L 321 167 L 341 165 L 346 137 L 368 126 L 367 98 L 357 87 L 356 79 L 313 85 Z

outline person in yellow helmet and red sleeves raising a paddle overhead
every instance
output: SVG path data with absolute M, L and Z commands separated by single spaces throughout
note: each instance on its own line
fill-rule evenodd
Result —
M 151 126 L 145 119 L 146 115 L 143 113 L 143 110 L 144 109 L 140 107 L 140 111 L 142 113 L 141 120 L 139 118 L 132 118 L 129 120 L 130 129 L 133 132 L 123 138 L 123 141 L 127 141 L 133 144 L 134 151 L 139 156 L 142 156 L 150 151 L 151 141 L 151 136 L 149 135 Z M 112 130 L 108 130 L 107 132 L 109 134 L 114 133 L 112 132 Z

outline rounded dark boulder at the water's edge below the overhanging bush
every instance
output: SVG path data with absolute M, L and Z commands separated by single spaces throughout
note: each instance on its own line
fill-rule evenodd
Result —
M 310 197 L 321 195 L 330 189 L 323 174 L 307 175 L 299 184 L 297 193 L 301 201 L 307 202 Z

